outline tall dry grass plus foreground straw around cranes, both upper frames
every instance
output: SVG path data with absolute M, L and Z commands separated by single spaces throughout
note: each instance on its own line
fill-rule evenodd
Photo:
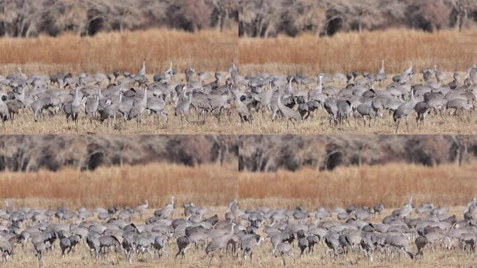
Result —
M 377 70 L 381 59 L 386 59 L 385 70 L 388 80 L 375 89 L 385 87 L 391 81 L 392 73 L 400 73 L 413 61 L 416 75 L 412 82 L 421 83 L 421 68 L 437 64 L 441 70 L 452 73 L 464 70 L 477 62 L 477 50 L 474 41 L 477 29 L 458 31 L 446 30 L 425 33 L 408 29 L 391 29 L 358 33 L 340 33 L 332 37 L 318 38 L 303 34 L 296 38 L 279 36 L 278 38 L 237 38 L 232 30 L 200 31 L 197 34 L 182 31 L 156 29 L 126 33 L 98 34 L 93 37 L 79 38 L 63 35 L 58 38 L 41 36 L 40 38 L 0 38 L 0 73 L 5 75 L 23 66 L 27 75 L 32 73 L 56 73 L 59 71 L 78 73 L 87 71 L 110 72 L 114 69 L 135 72 L 146 57 L 146 70 L 149 80 L 152 73 L 165 70 L 169 60 L 174 60 L 178 75 L 173 82 L 183 82 L 183 70 L 188 66 L 196 70 L 213 72 L 225 71 L 233 59 L 239 59 L 240 72 L 256 73 L 296 73 L 303 71 L 315 75 L 318 71 L 326 73 L 350 70 Z M 212 79 L 208 80 L 210 82 Z M 446 81 L 450 82 L 450 80 Z M 345 84 L 335 82 L 335 87 Z M 105 87 L 105 85 L 103 85 Z M 312 85 L 315 87 L 315 85 Z M 320 110 L 317 117 L 303 124 L 287 129 L 285 120 L 271 122 L 271 113 L 252 114 L 253 124 L 239 125 L 239 116 L 232 107 L 231 117 L 222 117 L 220 124 L 215 117 L 197 119 L 195 112 L 190 115 L 190 124 L 180 124 L 174 117 L 174 105 L 166 108 L 169 122 L 152 117 L 144 117 L 143 124 L 135 122 L 121 124 L 120 129 L 107 128 L 106 124 L 93 123 L 84 119 L 79 128 L 67 124 L 63 114 L 53 118 L 40 119 L 33 124 L 33 112 L 28 111 L 0 129 L 1 133 L 157 133 L 157 134 L 251 134 L 251 133 L 342 133 L 342 134 L 391 134 L 395 123 L 392 117 L 384 114 L 384 120 L 373 123 L 370 128 L 363 127 L 362 121 L 334 128 L 328 124 L 326 112 Z M 414 115 L 410 121 L 414 122 Z M 400 132 L 404 133 L 404 124 Z M 476 133 L 477 121 L 474 115 L 469 117 L 440 117 L 430 115 L 425 126 L 417 128 L 410 125 L 410 134 L 434 133 Z

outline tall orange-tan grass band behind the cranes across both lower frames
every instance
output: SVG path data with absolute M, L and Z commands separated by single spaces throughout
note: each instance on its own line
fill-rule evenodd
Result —
M 477 165 L 425 167 L 404 163 L 338 167 L 319 172 L 238 172 L 232 164 L 185 167 L 149 164 L 97 168 L 79 172 L 2 172 L 0 196 L 15 205 L 67 207 L 121 204 L 149 200 L 162 205 L 175 195 L 178 204 L 193 201 L 221 206 L 239 197 L 243 207 L 324 207 L 374 205 L 400 207 L 414 196 L 416 203 L 457 206 L 477 195 Z

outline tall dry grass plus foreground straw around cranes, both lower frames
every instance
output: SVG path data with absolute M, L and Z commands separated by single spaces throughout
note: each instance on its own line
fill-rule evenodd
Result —
M 75 208 L 85 205 L 121 204 L 135 205 L 147 198 L 151 207 L 161 207 L 169 195 L 178 197 L 177 209 L 173 218 L 183 217 L 182 202 L 193 200 L 196 204 L 211 206 L 206 216 L 218 214 L 223 217 L 226 204 L 234 198 L 239 188 L 241 209 L 269 207 L 295 207 L 303 205 L 314 209 L 317 205 L 328 208 L 374 204 L 384 202 L 388 209 L 383 216 L 372 218 L 377 223 L 391 208 L 400 207 L 409 195 L 414 195 L 416 204 L 432 200 L 436 205 L 450 206 L 450 214 L 462 218 L 462 207 L 477 193 L 474 183 L 476 165 L 441 165 L 426 168 L 418 165 L 391 164 L 383 166 L 363 166 L 337 168 L 333 172 L 300 170 L 298 172 L 242 173 L 237 174 L 234 167 L 218 168 L 215 165 L 202 165 L 198 168 L 185 168 L 179 165 L 146 165 L 123 168 L 98 168 L 95 172 L 79 173 L 73 170 L 60 172 L 10 173 L 0 176 L 0 195 L 10 199 L 10 205 L 17 207 L 56 207 L 64 205 Z M 239 179 L 237 179 L 239 177 Z M 237 186 L 238 184 L 238 186 Z M 184 188 L 184 186 L 186 186 Z M 105 195 L 106 193 L 106 195 Z M 118 194 L 121 193 L 121 194 Z M 3 204 L 0 205 L 3 209 Z M 144 218 L 151 216 L 148 209 Z M 141 220 L 135 218 L 135 222 Z M 261 233 L 262 234 L 262 233 Z M 416 253 L 414 243 L 411 252 Z M 209 258 L 204 258 L 204 249 L 190 248 L 185 259 L 174 260 L 177 246 L 172 239 L 167 247 L 169 258 L 152 259 L 146 254 L 145 260 L 134 255 L 131 267 L 207 267 Z M 268 239 L 254 251 L 254 263 L 234 260 L 225 255 L 223 263 L 218 258 L 211 267 L 280 267 L 280 258 L 273 258 Z M 326 245 L 318 244 L 313 255 L 299 258 L 298 248 L 293 248 L 296 262 L 287 258 L 287 267 L 473 267 L 475 255 L 463 253 L 454 248 L 451 251 L 437 248 L 432 252 L 425 250 L 424 259 L 412 261 L 400 257 L 394 260 L 375 256 L 372 264 L 358 254 L 358 265 L 351 265 L 352 255 L 334 260 L 325 256 Z M 35 267 L 38 260 L 32 254 L 31 243 L 26 248 L 17 246 L 15 255 L 6 267 Z M 241 256 L 241 255 L 240 255 Z M 77 251 L 66 258 L 59 256 L 59 250 L 45 255 L 45 267 L 111 267 L 114 254 L 107 259 L 91 260 L 86 244 L 79 244 Z M 126 265 L 123 253 L 119 254 L 120 266 Z

